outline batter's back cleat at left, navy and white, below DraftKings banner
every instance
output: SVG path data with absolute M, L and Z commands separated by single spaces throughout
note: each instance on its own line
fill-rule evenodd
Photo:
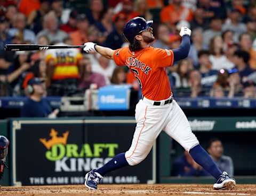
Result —
M 88 172 L 85 175 L 85 181 L 84 181 L 84 185 L 89 188 L 89 189 L 97 189 L 98 188 L 98 184 L 101 183 L 102 181 L 102 176 L 97 173 L 94 172 L 96 169 L 93 169 L 91 172 Z

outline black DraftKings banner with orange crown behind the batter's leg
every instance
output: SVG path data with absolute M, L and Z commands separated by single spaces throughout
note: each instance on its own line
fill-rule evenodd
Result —
M 13 184 L 83 184 L 84 176 L 129 149 L 135 123 L 12 121 Z M 14 151 L 15 150 L 15 151 Z M 147 183 L 152 151 L 141 164 L 107 174 L 103 183 Z

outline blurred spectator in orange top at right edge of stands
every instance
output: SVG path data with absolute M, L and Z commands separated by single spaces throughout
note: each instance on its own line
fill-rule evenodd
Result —
M 239 46 L 250 54 L 249 65 L 252 69 L 256 69 L 256 48 L 252 47 L 252 38 L 248 33 L 242 33 L 239 36 Z

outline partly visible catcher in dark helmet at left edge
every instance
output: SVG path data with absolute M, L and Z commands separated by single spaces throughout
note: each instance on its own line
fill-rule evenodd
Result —
M 7 167 L 5 161 L 8 154 L 9 143 L 9 140 L 6 137 L 0 135 L 0 180 L 4 174 L 4 167 Z

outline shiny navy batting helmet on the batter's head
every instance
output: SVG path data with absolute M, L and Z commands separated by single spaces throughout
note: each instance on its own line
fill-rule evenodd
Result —
M 133 39 L 136 35 L 145 31 L 147 28 L 151 27 L 153 20 L 146 21 L 141 17 L 135 17 L 129 20 L 124 25 L 124 37 L 130 42 L 133 42 Z

